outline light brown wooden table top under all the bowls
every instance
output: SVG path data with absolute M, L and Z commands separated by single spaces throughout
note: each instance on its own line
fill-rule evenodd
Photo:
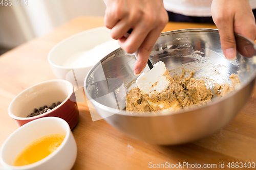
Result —
M 47 61 L 51 48 L 73 34 L 102 26 L 102 17 L 78 17 L 0 56 L 0 147 L 18 128 L 8 115 L 8 106 L 15 96 L 34 84 L 56 79 Z M 216 27 L 170 22 L 163 31 L 186 28 Z M 217 164 L 217 167 L 225 163 L 226 167 L 228 162 L 256 162 L 256 88 L 226 127 L 196 142 L 175 146 L 135 140 L 103 119 L 92 122 L 86 103 L 79 103 L 78 108 L 79 122 L 73 130 L 78 154 L 72 169 L 148 169 L 166 162 Z

